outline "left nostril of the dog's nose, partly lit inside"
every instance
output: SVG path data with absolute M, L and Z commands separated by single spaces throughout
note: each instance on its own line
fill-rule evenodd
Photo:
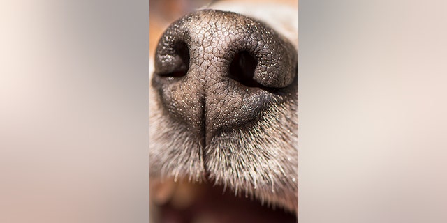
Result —
M 189 49 L 184 42 L 176 43 L 172 48 L 173 59 L 170 63 L 164 63 L 164 70 L 159 72 L 161 77 L 184 77 L 189 70 Z

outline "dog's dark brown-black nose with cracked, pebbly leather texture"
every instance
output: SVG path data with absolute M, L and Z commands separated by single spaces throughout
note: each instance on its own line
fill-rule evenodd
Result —
M 247 128 L 298 88 L 298 54 L 273 29 L 244 15 L 201 10 L 159 40 L 152 85 L 166 114 L 205 143 Z M 274 118 L 274 117 L 273 117 Z

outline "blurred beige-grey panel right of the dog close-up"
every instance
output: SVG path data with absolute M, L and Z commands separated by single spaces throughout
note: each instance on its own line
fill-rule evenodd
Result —
M 300 0 L 301 222 L 447 222 L 445 8 Z

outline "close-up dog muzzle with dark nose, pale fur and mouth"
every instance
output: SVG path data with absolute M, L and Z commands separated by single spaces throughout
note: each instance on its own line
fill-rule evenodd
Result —
M 151 213 L 157 222 L 295 222 L 298 12 L 210 8 L 170 24 L 152 58 Z

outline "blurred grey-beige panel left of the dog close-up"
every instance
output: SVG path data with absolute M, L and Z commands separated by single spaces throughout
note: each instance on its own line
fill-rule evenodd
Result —
M 0 222 L 148 222 L 149 2 L 0 5 Z

